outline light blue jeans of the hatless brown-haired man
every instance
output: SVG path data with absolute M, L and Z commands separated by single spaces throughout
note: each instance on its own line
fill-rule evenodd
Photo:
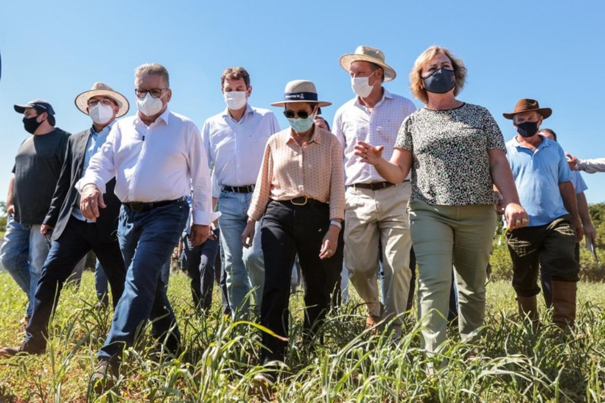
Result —
M 252 193 L 235 193 L 221 191 L 218 198 L 218 210 L 221 216 L 218 224 L 221 228 L 221 246 L 224 253 L 224 271 L 226 273 L 229 306 L 232 312 L 247 311 L 249 300 L 246 295 L 251 286 L 256 303 L 256 311 L 261 306 L 264 285 L 264 261 L 261 249 L 261 222 L 257 222 L 252 247 L 244 249 L 241 244 L 243 233 L 248 220 Z

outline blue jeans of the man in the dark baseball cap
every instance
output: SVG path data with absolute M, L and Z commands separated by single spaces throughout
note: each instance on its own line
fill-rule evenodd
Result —
M 40 225 L 19 224 L 8 216 L 0 262 L 27 294 L 27 316 L 33 312 L 33 300 L 42 266 L 48 255 L 48 240 L 40 233 Z

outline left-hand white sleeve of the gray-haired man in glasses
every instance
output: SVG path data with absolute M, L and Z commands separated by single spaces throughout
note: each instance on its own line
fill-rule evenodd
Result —
M 83 187 L 88 184 L 94 184 L 101 193 L 105 193 L 105 184 L 116 176 L 116 166 L 114 161 L 114 152 L 117 138 L 120 136 L 119 124 L 111 127 L 110 134 L 107 135 L 105 143 L 94 153 L 90 159 L 86 172 L 76 182 L 76 190 L 82 193 Z

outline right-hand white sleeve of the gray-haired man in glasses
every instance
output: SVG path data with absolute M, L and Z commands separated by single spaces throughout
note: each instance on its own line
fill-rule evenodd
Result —
M 193 224 L 209 225 L 220 216 L 220 213 L 212 211 L 210 171 L 200 131 L 198 131 L 193 123 L 189 130 L 188 165 L 189 173 L 191 174 L 191 187 L 193 189 L 191 202 Z

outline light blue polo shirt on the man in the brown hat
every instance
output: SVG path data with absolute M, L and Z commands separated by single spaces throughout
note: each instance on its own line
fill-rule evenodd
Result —
M 528 227 L 546 225 L 567 214 L 559 184 L 572 180 L 565 153 L 556 142 L 543 136 L 537 149 L 522 146 L 515 136 L 506 143 L 521 205 L 529 216 Z

